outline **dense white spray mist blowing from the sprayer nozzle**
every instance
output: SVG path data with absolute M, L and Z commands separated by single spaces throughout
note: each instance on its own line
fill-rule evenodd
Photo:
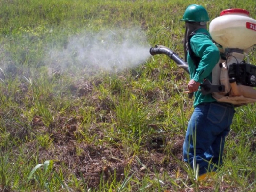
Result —
M 65 48 L 53 48 L 48 63 L 61 71 L 118 72 L 146 62 L 149 49 L 139 28 L 84 32 L 69 38 Z

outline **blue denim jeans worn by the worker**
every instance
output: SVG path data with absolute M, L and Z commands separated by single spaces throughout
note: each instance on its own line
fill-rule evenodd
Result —
M 222 164 L 225 137 L 230 131 L 234 107 L 227 103 L 202 103 L 196 106 L 183 144 L 183 158 L 190 167 L 199 166 L 199 175 L 216 171 Z M 217 166 L 216 166 L 217 165 Z

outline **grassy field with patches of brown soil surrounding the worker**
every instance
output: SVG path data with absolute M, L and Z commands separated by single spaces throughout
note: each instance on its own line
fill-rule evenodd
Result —
M 182 161 L 189 77 L 149 49 L 183 58 L 192 3 L 256 18 L 255 0 L 0 0 L 0 192 L 256 191 L 254 104 L 210 183 Z

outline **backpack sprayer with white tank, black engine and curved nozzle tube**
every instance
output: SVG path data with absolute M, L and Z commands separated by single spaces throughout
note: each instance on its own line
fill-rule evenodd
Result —
M 212 82 L 201 84 L 202 94 L 211 93 L 217 101 L 234 105 L 256 102 L 256 66 L 243 60 L 256 44 L 256 20 L 244 9 L 227 9 L 210 22 L 209 32 L 221 57 L 212 70 Z M 149 52 L 167 55 L 189 73 L 188 64 L 168 47 L 156 45 Z

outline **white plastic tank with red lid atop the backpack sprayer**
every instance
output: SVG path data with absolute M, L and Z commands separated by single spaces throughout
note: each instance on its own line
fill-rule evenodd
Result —
M 244 9 L 226 9 L 209 25 L 212 39 L 225 48 L 247 49 L 256 44 L 256 20 Z

